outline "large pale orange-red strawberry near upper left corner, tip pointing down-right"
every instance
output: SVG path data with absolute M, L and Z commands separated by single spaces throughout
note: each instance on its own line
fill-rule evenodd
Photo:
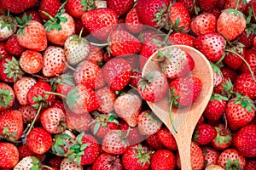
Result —
M 23 24 L 17 32 L 17 40 L 21 46 L 34 50 L 44 51 L 47 48 L 47 36 L 44 26 L 36 20 L 25 21 L 18 20 Z

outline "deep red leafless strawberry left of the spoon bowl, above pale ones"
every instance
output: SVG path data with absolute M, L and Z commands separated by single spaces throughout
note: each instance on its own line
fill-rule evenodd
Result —
M 102 67 L 102 72 L 105 81 L 115 91 L 121 91 L 131 79 L 131 65 L 122 58 L 109 60 Z

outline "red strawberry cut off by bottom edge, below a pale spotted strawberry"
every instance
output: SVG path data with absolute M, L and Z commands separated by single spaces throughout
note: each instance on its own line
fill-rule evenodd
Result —
M 103 153 L 98 156 L 96 161 L 93 162 L 92 168 L 94 170 L 122 170 L 122 163 L 119 156 L 113 156 L 111 154 Z

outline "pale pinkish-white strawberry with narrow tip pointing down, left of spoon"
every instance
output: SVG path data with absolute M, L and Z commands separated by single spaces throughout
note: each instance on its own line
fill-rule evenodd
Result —
M 123 94 L 114 100 L 113 108 L 130 127 L 136 127 L 137 117 L 142 109 L 142 100 L 137 94 Z

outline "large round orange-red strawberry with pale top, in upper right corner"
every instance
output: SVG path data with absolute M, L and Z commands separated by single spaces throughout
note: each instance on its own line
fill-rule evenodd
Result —
M 240 11 L 225 9 L 217 20 L 217 31 L 228 41 L 236 39 L 246 28 L 246 19 Z

